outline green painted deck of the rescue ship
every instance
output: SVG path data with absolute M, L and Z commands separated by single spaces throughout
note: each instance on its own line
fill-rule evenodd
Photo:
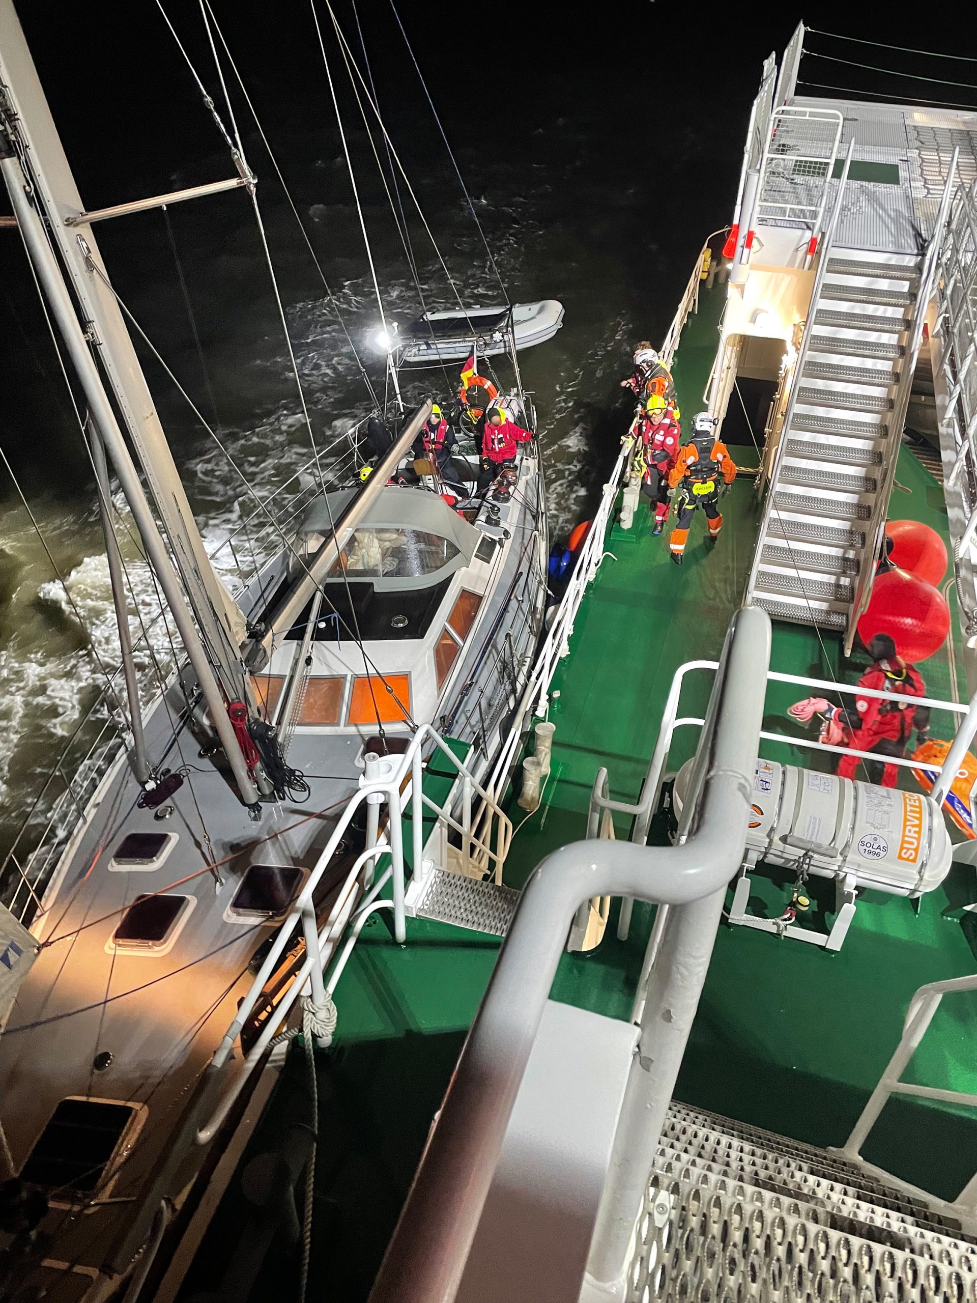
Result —
M 676 360 L 687 418 L 701 405 L 722 294 L 703 296 Z M 744 452 L 733 450 L 737 457 Z M 756 465 L 756 455 L 743 460 Z M 892 517 L 925 520 L 946 534 L 942 493 L 905 451 L 899 482 L 905 493 L 894 494 Z M 681 568 L 668 559 L 667 536 L 651 536 L 644 506 L 630 532 L 610 533 L 614 559 L 604 560 L 584 601 L 571 655 L 554 681 L 552 771 L 543 805 L 516 834 L 507 864 L 512 885 L 520 886 L 547 852 L 584 835 L 598 767 L 610 770 L 614 796 L 636 799 L 675 670 L 718 657 L 753 555 L 752 480 L 737 481 L 723 508 L 716 543 L 706 542 L 702 520 L 693 524 Z M 836 638 L 822 641 L 812 629 L 784 624 L 774 625 L 772 667 L 843 681 L 861 672 L 858 662 L 843 662 Z M 924 672 L 931 694 L 951 693 L 946 653 L 926 662 Z M 705 674 L 689 680 L 683 714 L 702 714 L 710 683 Z M 786 727 L 784 709 L 800 696 L 806 692 L 771 691 L 770 727 Z M 933 735 L 946 736 L 946 724 L 935 715 Z M 685 730 L 670 769 L 694 745 L 696 730 Z M 828 765 L 826 756 L 787 745 L 765 753 Z M 522 812 L 513 807 L 513 816 Z M 617 831 L 627 835 L 627 821 Z M 664 835 L 659 820 L 653 839 Z M 963 872 L 952 870 L 951 890 Z M 813 890 L 822 895 L 817 883 Z M 779 915 L 788 890 L 771 883 L 766 899 Z M 922 982 L 974 969 L 968 933 L 944 917 L 947 907 L 943 890 L 925 896 L 918 915 L 907 900 L 866 893 L 840 954 L 720 928 L 677 1097 L 801 1140 L 842 1143 L 896 1045 L 911 994 Z M 651 915 L 637 906 L 630 939 L 621 943 L 615 906 L 602 945 L 586 956 L 564 956 L 554 998 L 627 1018 Z M 328 1283 L 330 1298 L 369 1293 L 496 952 L 495 938 L 426 921 L 410 921 L 405 947 L 393 943 L 383 919 L 363 932 L 336 992 L 336 1046 L 322 1055 L 319 1070 L 313 1283 Z M 912 1066 L 917 1080 L 977 1091 L 974 1014 L 972 995 L 944 1001 Z M 266 1132 L 298 1108 L 302 1091 L 296 1053 Z M 261 1144 L 259 1131 L 253 1148 Z M 911 1101 L 886 1109 L 865 1153 L 941 1195 L 955 1195 L 977 1165 L 969 1118 Z

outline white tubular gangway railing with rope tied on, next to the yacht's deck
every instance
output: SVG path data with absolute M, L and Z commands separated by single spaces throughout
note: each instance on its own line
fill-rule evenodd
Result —
M 442 805 L 423 791 L 423 769 L 430 756 L 439 753 L 456 770 L 457 779 Z M 366 846 L 356 856 L 336 891 L 324 923 L 319 923 L 315 895 L 323 874 L 333 865 L 353 817 L 366 805 Z M 380 826 L 380 810 L 386 805 L 386 826 Z M 485 810 L 490 812 L 486 822 Z M 434 816 L 434 829 L 425 837 L 425 812 Z M 244 1054 L 244 1061 L 233 1081 L 223 1091 L 219 1102 L 197 1132 L 199 1144 L 207 1144 L 220 1130 L 245 1081 L 270 1049 L 279 1028 L 292 1011 L 296 999 L 307 993 L 311 1007 L 328 1007 L 343 969 L 357 943 L 367 919 L 379 909 L 392 909 L 393 936 L 397 943 L 406 941 L 405 909 L 405 856 L 404 816 L 409 812 L 414 874 L 425 870 L 425 846 L 440 839 L 446 833 L 460 842 L 461 870 L 475 869 L 502 880 L 502 868 L 512 840 L 512 822 L 500 809 L 488 790 L 478 782 L 465 760 L 430 724 L 422 724 L 403 753 L 365 757 L 360 790 L 349 800 L 336 821 L 328 842 L 322 850 L 302 890 L 296 896 L 288 915 L 281 921 L 261 968 L 248 994 L 237 1007 L 224 1038 L 210 1065 L 210 1075 L 216 1076 L 232 1057 L 234 1042 L 253 1023 L 268 982 L 285 962 L 285 949 L 301 932 L 305 942 L 301 963 L 280 998 L 271 1002 L 254 1044 Z M 380 864 L 383 868 L 380 872 Z M 379 876 L 378 876 L 379 874 Z M 389 883 L 391 896 L 380 893 Z M 331 966 L 331 967 L 330 967 Z M 326 972 L 328 967 L 328 973 Z

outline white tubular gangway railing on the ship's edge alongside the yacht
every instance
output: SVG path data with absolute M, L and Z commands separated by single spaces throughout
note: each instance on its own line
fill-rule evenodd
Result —
M 456 794 L 453 790 L 455 784 L 452 784 L 452 791 L 440 807 L 423 794 L 422 778 L 425 747 L 429 744 L 432 744 L 429 754 L 439 751 L 448 760 L 448 762 L 453 765 L 462 782 L 464 813 L 461 823 L 451 816 L 451 809 L 456 801 Z M 481 799 L 483 808 L 490 810 L 491 817 L 498 820 L 498 839 L 495 851 L 491 850 L 490 829 L 486 831 L 483 838 L 478 835 L 475 825 L 481 817 L 481 810 L 477 812 L 473 818 L 472 797 L 474 795 Z M 240 1095 L 245 1080 L 259 1059 L 264 1055 L 272 1037 L 281 1025 L 283 1020 L 288 1016 L 306 982 L 310 980 L 315 982 L 326 963 L 328 963 L 335 955 L 353 912 L 353 906 L 356 904 L 358 878 L 363 870 L 366 870 L 367 881 L 362 883 L 362 887 L 369 887 L 369 880 L 373 874 L 373 861 L 380 855 L 389 855 L 389 869 L 379 882 L 373 885 L 370 903 L 375 899 L 380 886 L 383 886 L 389 878 L 393 895 L 392 908 L 395 939 L 400 945 L 404 945 L 406 941 L 403 814 L 408 808 L 408 804 L 410 805 L 412 868 L 414 873 L 421 872 L 423 863 L 425 807 L 434 810 L 439 818 L 444 818 L 452 827 L 461 833 L 462 859 L 468 859 L 472 847 L 475 847 L 481 855 L 486 857 L 486 860 L 495 861 L 496 870 L 500 869 L 502 863 L 505 859 L 509 842 L 512 839 L 512 821 L 499 808 L 490 792 L 477 780 L 468 764 L 451 749 L 447 741 L 431 727 L 431 724 L 421 724 L 414 736 L 410 739 L 406 751 L 403 753 L 365 757 L 363 774 L 360 778 L 360 790 L 348 801 L 345 809 L 336 821 L 336 826 L 333 827 L 328 842 L 319 853 L 309 877 L 305 880 L 302 890 L 289 907 L 288 915 L 279 924 L 275 939 L 270 946 L 261 968 L 255 973 L 255 977 L 244 999 L 237 1006 L 234 1019 L 211 1058 L 208 1067 L 208 1072 L 211 1072 L 211 1075 L 219 1072 L 231 1058 L 234 1041 L 241 1035 L 251 1012 L 254 1011 L 255 1005 L 259 1002 L 268 979 L 275 972 L 275 968 L 281 959 L 285 946 L 296 933 L 297 925 L 304 921 L 307 923 L 307 916 L 314 909 L 313 896 L 315 890 L 323 874 L 330 868 L 339 843 L 349 827 L 353 816 L 365 801 L 370 803 L 371 796 L 378 796 L 382 801 L 386 800 L 387 803 L 389 817 L 386 829 L 386 840 L 378 840 L 374 846 L 367 844 L 362 853 L 357 856 L 352 868 L 347 873 L 345 882 L 340 889 L 336 900 L 330 909 L 326 924 L 318 930 L 318 943 L 315 945 L 310 945 L 310 941 L 315 937 L 313 913 L 313 929 L 311 932 L 307 926 L 305 929 L 306 954 L 302 966 L 296 973 L 289 989 L 275 1006 L 274 1011 L 268 1015 L 261 1036 L 245 1054 L 244 1063 L 238 1070 L 232 1087 L 223 1095 L 219 1105 L 216 1105 L 212 1110 L 210 1119 L 199 1127 L 197 1132 L 197 1140 L 199 1144 L 207 1144 L 216 1134 L 233 1101 Z M 339 980 L 339 973 L 336 975 L 336 980 Z

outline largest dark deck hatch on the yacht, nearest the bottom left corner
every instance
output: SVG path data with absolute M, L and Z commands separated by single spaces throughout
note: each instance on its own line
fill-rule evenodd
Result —
M 44 1190 L 91 1195 L 133 1121 L 132 1104 L 61 1100 L 21 1170 L 21 1181 Z

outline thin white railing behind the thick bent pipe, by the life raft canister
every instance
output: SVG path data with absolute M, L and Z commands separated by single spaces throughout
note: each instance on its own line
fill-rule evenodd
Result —
M 602 818 L 607 813 L 629 814 L 632 817 L 630 840 L 637 842 L 644 846 L 647 842 L 647 831 L 654 817 L 655 810 L 659 807 L 662 799 L 662 786 L 670 777 L 668 758 L 671 753 L 672 741 L 675 734 L 680 728 L 701 728 L 703 726 L 703 718 L 701 715 L 680 715 L 679 709 L 681 704 L 681 692 L 689 675 L 697 671 L 715 672 L 719 667 L 718 661 L 687 661 L 685 665 L 679 666 L 672 676 L 672 683 L 668 689 L 668 696 L 666 697 L 664 710 L 662 713 L 662 724 L 658 731 L 658 739 L 655 741 L 655 749 L 651 754 L 651 760 L 647 766 L 647 773 L 645 780 L 641 784 L 641 794 L 637 801 L 617 801 L 612 800 L 608 795 L 608 775 L 607 769 L 599 769 L 597 778 L 594 779 L 594 787 L 590 794 L 590 808 L 588 813 L 589 826 L 595 826 L 595 821 Z M 815 694 L 825 693 L 842 693 L 848 697 L 877 697 L 881 701 L 905 701 L 913 706 L 929 706 L 933 710 L 946 710 L 951 718 L 963 718 L 972 714 L 972 706 L 961 704 L 959 701 L 942 701 L 938 697 L 909 697 L 901 693 L 882 692 L 877 688 L 860 688 L 857 685 L 845 683 L 834 683 L 827 679 L 813 679 L 806 675 L 800 674 L 783 674 L 779 670 L 767 670 L 766 674 L 767 684 L 771 683 L 786 683 L 793 684 L 799 688 L 813 689 Z M 964 730 L 967 724 L 964 724 Z M 956 730 L 955 730 L 956 731 Z M 810 752 L 827 752 L 828 754 L 836 756 L 851 756 L 856 760 L 870 760 L 878 764 L 878 753 L 868 751 L 857 751 L 851 747 L 835 747 L 831 743 L 818 741 L 815 737 L 797 736 L 792 732 L 780 732 L 772 728 L 761 728 L 759 731 L 761 743 L 782 743 L 788 747 L 796 747 L 800 751 Z M 905 758 L 900 756 L 886 756 L 887 765 L 896 765 L 900 769 L 913 769 L 924 770 L 930 773 L 937 783 L 939 774 L 947 769 L 948 764 L 956 767 L 954 758 L 947 754 L 942 764 L 934 765 L 926 761 L 918 761 L 912 758 Z M 948 787 L 948 784 L 947 784 Z M 630 932 L 632 909 L 633 900 L 621 900 L 621 908 L 617 915 L 617 937 L 621 941 L 628 939 Z M 651 936 L 649 937 L 647 947 L 645 950 L 645 959 L 641 968 L 641 977 L 638 979 L 637 992 L 634 995 L 634 1006 L 632 1011 L 633 1020 L 637 1022 L 641 1016 L 641 1009 L 645 1001 L 645 993 L 647 989 L 649 975 L 655 963 L 655 956 L 658 954 L 658 947 L 662 941 L 662 934 L 667 921 L 668 909 L 667 907 L 660 907 L 655 916 L 655 923 L 651 929 Z

